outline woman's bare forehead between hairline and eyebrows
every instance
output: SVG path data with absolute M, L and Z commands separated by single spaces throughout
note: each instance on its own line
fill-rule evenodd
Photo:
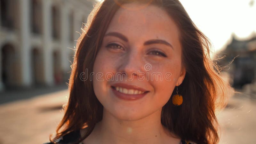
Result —
M 162 38 L 172 43 L 179 38 L 174 20 L 163 9 L 141 4 L 124 4 L 113 16 L 107 32 L 120 32 L 130 39 Z

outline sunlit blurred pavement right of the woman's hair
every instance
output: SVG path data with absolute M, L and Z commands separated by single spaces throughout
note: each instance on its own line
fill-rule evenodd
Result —
M 256 101 L 250 95 L 235 95 L 217 116 L 222 131 L 220 144 L 249 144 L 256 141 Z

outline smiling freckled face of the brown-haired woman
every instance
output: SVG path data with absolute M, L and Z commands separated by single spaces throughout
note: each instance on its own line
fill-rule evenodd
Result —
M 93 66 L 96 97 L 122 120 L 138 120 L 161 110 L 185 76 L 178 27 L 164 10 L 140 7 L 124 4 L 116 12 Z M 134 94 L 136 90 L 146 92 Z

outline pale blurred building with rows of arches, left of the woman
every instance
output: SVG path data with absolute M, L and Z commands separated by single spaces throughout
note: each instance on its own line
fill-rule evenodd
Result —
M 94 0 L 0 0 L 0 90 L 68 81 Z

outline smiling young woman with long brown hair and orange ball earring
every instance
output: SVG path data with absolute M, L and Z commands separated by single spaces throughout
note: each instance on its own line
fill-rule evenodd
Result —
M 178 0 L 104 0 L 82 31 L 51 143 L 219 141 L 216 112 L 232 89 Z

